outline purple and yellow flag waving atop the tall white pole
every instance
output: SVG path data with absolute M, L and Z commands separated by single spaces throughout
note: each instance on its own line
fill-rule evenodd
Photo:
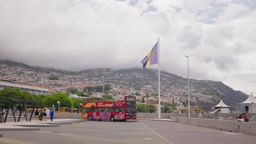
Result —
M 155 44 L 153 49 L 148 53 L 148 55 L 141 61 L 143 64 L 143 69 L 149 67 L 149 65 L 158 63 L 158 43 Z

